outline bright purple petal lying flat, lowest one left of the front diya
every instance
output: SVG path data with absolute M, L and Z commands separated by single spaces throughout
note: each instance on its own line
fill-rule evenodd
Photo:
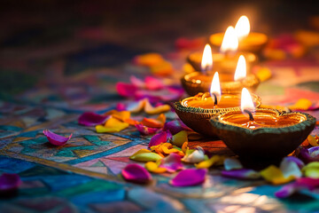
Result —
M 181 170 L 169 183 L 174 186 L 191 186 L 204 183 L 206 169 Z

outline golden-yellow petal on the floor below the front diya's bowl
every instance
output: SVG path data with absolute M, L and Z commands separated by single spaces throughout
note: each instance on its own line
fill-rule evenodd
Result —
M 274 165 L 268 166 L 265 170 L 261 170 L 261 177 L 274 185 L 281 185 L 291 182 L 295 177 L 284 177 L 282 170 Z

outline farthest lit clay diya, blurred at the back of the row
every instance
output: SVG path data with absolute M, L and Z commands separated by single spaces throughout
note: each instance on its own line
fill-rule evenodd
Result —
M 262 33 L 250 32 L 250 23 L 246 16 L 242 16 L 237 21 L 235 30 L 238 37 L 238 51 L 249 51 L 260 53 L 268 42 L 268 36 Z M 217 33 L 209 37 L 209 42 L 216 48 L 223 43 L 223 33 Z

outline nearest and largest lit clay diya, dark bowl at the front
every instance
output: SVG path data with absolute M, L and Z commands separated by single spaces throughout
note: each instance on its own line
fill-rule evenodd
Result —
M 212 130 L 235 154 L 246 159 L 280 159 L 291 154 L 315 128 L 309 114 L 254 109 L 243 89 L 241 110 L 211 118 Z

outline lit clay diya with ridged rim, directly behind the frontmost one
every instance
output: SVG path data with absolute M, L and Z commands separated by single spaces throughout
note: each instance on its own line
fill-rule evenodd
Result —
M 240 110 L 241 94 L 221 95 L 218 73 L 214 74 L 210 92 L 198 93 L 193 97 L 175 102 L 175 112 L 192 130 L 207 137 L 217 138 L 209 119 L 220 113 Z M 253 95 L 254 106 L 261 106 L 261 98 Z

